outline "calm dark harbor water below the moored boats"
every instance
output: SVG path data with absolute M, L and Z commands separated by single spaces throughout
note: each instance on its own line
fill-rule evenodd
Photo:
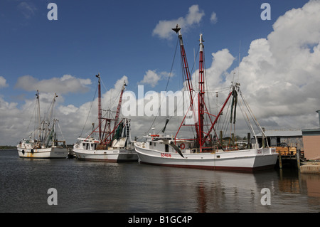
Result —
M 58 205 L 48 205 L 50 188 L 57 190 Z M 270 190 L 270 205 L 262 205 L 268 196 L 262 189 Z M 319 211 L 320 176 L 297 169 L 245 174 L 136 162 L 21 159 L 15 149 L 0 151 L 1 213 Z

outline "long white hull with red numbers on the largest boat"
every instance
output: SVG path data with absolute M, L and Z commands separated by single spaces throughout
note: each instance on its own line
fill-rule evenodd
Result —
M 174 152 L 146 149 L 141 143 L 134 144 L 134 147 L 140 163 L 213 170 L 254 171 L 270 169 L 276 164 L 278 155 L 273 148 L 260 148 L 215 153 L 183 153 L 183 158 Z

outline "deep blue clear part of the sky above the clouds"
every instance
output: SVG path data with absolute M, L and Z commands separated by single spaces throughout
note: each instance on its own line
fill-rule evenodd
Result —
M 57 21 L 47 19 L 50 2 L 58 6 Z M 260 18 L 263 11 L 260 6 L 264 2 L 271 6 L 270 21 Z M 102 75 L 107 90 L 114 88 L 124 75 L 129 80 L 127 90 L 136 92 L 139 84 L 145 85 L 144 90 L 164 90 L 167 80 L 161 75 L 170 71 L 177 39 L 173 31 L 168 37 L 156 33 L 156 26 L 161 21 L 182 19 L 186 24 L 181 31 L 189 66 L 193 65 L 193 51 L 198 48 L 198 35 L 203 33 L 207 68 L 213 62 L 211 53 L 228 49 L 234 57 L 232 65 L 225 69 L 230 73 L 238 67 L 239 50 L 240 60 L 249 56 L 252 41 L 267 39 L 279 16 L 302 8 L 307 2 L 2 0 L 1 105 L 11 105 L 21 111 L 26 100 L 34 98 L 35 88 L 28 88 L 28 83 L 34 81 L 39 85 L 50 83 L 38 89 L 41 93 L 57 92 L 61 95 L 58 105 L 80 108 L 92 100 L 97 73 Z M 191 9 L 194 14 L 190 14 Z M 210 20 L 213 13 L 215 20 Z M 317 40 L 310 43 L 312 47 L 317 44 Z M 143 83 L 148 70 L 161 79 L 153 84 Z M 62 80 L 70 83 L 55 87 L 61 85 L 64 75 L 68 75 L 65 79 L 72 81 Z M 58 80 L 59 83 L 55 84 Z M 172 78 L 175 80 L 176 76 Z M 175 83 L 169 85 L 169 90 L 177 89 Z M 316 119 L 311 121 L 309 125 L 316 127 Z

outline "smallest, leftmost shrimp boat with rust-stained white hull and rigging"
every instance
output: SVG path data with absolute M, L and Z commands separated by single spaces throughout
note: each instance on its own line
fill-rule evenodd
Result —
M 58 129 L 60 130 L 58 120 L 54 117 L 51 119 L 55 105 L 55 97 L 58 97 L 58 95 L 54 95 L 47 116 L 41 120 L 40 98 L 39 92 L 37 91 L 35 109 L 36 130 L 31 132 L 28 139 L 22 139 L 21 142 L 17 144 L 16 147 L 19 157 L 33 159 L 65 159 L 68 157 L 69 152 L 65 140 L 58 140 L 57 138 L 57 131 Z

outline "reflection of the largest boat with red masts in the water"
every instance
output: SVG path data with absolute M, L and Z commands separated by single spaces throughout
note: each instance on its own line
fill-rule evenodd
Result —
M 203 171 L 201 169 L 172 169 L 161 170 L 166 184 L 175 185 L 179 193 L 174 194 L 181 199 L 181 206 L 189 206 L 188 211 L 198 213 L 210 212 L 268 212 L 271 206 L 261 203 L 262 189 L 270 189 L 272 208 L 278 198 L 277 171 L 259 171 L 257 173 L 235 173 L 231 171 Z M 181 175 L 188 176 L 179 178 Z M 169 186 L 168 186 L 169 187 Z M 167 189 L 171 190 L 171 189 Z M 179 197 L 181 194 L 181 197 Z M 186 204 L 183 198 L 188 198 Z M 178 200 L 179 201 L 179 200 Z

